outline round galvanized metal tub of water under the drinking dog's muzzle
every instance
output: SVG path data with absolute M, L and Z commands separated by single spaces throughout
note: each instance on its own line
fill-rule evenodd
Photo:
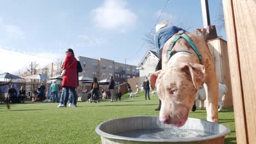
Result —
M 222 124 L 188 118 L 180 128 L 161 123 L 158 116 L 110 119 L 96 127 L 104 143 L 224 143 L 230 129 Z M 174 131 L 174 132 L 173 132 Z M 178 132 L 177 132 L 178 131 Z M 184 136 L 183 131 L 193 131 Z M 198 133 L 197 133 L 198 132 Z M 190 133 L 190 132 L 189 132 Z

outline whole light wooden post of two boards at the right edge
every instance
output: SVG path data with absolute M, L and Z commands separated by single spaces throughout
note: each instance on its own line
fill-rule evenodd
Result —
M 255 8 L 254 0 L 223 1 L 237 143 L 256 141 Z

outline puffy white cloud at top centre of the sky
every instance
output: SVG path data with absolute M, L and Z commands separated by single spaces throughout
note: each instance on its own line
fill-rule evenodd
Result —
M 126 5 L 125 0 L 105 0 L 100 7 L 91 11 L 94 24 L 103 29 L 126 32 L 137 21 L 137 15 Z

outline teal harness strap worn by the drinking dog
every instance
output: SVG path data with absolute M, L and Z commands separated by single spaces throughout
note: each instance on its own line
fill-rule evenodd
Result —
M 178 50 L 178 51 L 173 50 L 173 51 L 172 51 L 173 46 L 176 44 L 176 42 L 179 40 L 179 38 L 184 38 L 184 39 L 190 44 L 190 46 L 192 47 L 192 49 L 196 52 L 196 55 L 197 55 L 197 57 L 199 58 L 199 62 L 201 62 L 201 61 L 202 61 L 202 56 L 200 55 L 199 51 L 196 49 L 196 46 L 195 46 L 195 44 L 193 43 L 193 41 L 188 37 L 188 35 L 186 35 L 186 34 L 184 33 L 184 31 L 179 31 L 177 37 L 175 37 L 174 40 L 172 41 L 172 43 L 170 44 L 169 50 L 168 50 L 168 52 L 167 52 L 168 61 L 169 61 L 169 59 L 170 59 L 175 53 L 177 53 L 177 52 L 188 52 L 188 53 L 193 54 L 193 53 L 192 53 L 191 51 L 189 51 L 189 50 Z

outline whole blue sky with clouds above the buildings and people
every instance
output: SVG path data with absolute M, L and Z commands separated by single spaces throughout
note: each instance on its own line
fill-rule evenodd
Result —
M 142 47 L 167 0 L 4 1 L 0 0 L 0 73 L 13 73 L 36 61 L 45 64 L 75 56 L 106 58 L 137 65 Z M 209 1 L 211 24 L 221 12 L 220 0 Z M 161 20 L 202 28 L 201 1 L 171 1 Z M 218 29 L 217 29 L 218 31 Z M 225 29 L 218 31 L 225 38 Z M 4 48 L 3 48 L 4 47 Z M 141 48 L 142 47 L 142 48 Z

